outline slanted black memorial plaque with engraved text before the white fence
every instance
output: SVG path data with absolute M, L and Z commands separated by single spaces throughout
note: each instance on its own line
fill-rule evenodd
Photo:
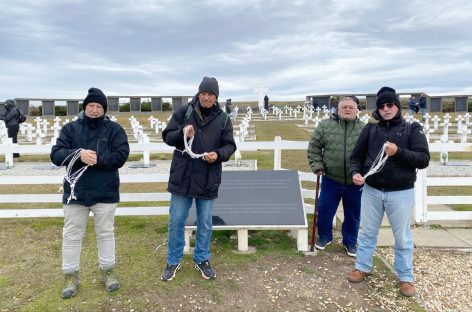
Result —
M 186 226 L 196 225 L 195 202 Z M 298 173 L 223 171 L 214 226 L 306 226 Z

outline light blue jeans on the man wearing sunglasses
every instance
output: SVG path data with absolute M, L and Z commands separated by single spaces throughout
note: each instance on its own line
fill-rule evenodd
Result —
M 377 246 L 377 236 L 385 211 L 395 238 L 395 272 L 400 281 L 413 282 L 413 238 L 410 218 L 414 200 L 414 189 L 384 192 L 364 184 L 356 269 L 362 272 L 372 270 L 372 255 Z

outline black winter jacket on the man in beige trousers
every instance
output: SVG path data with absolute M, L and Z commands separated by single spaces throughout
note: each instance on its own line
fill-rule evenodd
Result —
M 118 203 L 118 169 L 125 164 L 129 155 L 128 137 L 124 129 L 108 117 L 94 120 L 81 112 L 79 119 L 62 128 L 52 147 L 51 161 L 56 166 L 67 166 L 71 157 L 66 158 L 79 148 L 96 151 L 98 159 L 97 164 L 88 167 L 79 178 L 74 190 L 77 200 L 71 200 L 70 204 L 90 207 L 96 203 Z M 72 171 L 76 172 L 83 166 L 86 164 L 79 158 Z M 70 192 L 69 182 L 64 180 L 64 204 L 67 203 Z

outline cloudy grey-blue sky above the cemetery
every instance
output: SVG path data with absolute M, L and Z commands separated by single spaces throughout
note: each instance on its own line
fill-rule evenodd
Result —
M 472 94 L 472 1 L 1 0 L 0 100 Z

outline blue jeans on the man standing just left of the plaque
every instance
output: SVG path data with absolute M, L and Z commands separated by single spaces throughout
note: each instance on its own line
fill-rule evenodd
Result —
M 168 226 L 167 263 L 178 264 L 184 256 L 185 221 L 192 207 L 192 197 L 171 194 L 170 220 Z M 197 234 L 193 261 L 201 263 L 210 260 L 210 242 L 212 233 L 213 199 L 195 198 L 197 208 Z

